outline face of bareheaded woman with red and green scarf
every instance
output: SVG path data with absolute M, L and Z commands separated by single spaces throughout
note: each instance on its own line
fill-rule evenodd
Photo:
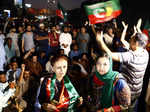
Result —
M 56 73 L 56 77 L 64 77 L 67 73 L 68 62 L 64 59 L 59 59 L 53 66 L 53 71 Z

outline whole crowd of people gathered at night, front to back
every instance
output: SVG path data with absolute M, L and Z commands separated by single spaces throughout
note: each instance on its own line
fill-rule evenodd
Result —
M 0 26 L 0 112 L 138 112 L 149 62 L 142 19 L 133 29 L 16 21 Z

